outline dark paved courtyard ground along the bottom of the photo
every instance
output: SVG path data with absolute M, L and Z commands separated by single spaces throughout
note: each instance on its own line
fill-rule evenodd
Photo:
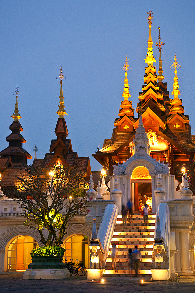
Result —
M 0 293 L 190 293 L 195 292 L 195 279 L 177 278 L 168 282 L 125 283 L 92 282 L 87 277 L 63 280 L 23 280 L 22 274 L 0 275 Z

